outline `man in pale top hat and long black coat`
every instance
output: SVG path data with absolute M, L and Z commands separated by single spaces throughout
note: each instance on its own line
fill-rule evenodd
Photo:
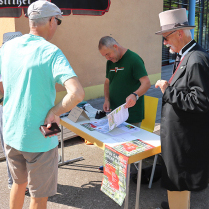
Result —
M 191 38 L 186 9 L 159 14 L 164 45 L 178 53 L 169 81 L 159 80 L 162 97 L 162 187 L 170 209 L 190 208 L 190 191 L 208 186 L 209 55 Z M 163 206 L 163 205 L 162 205 Z M 163 206 L 163 208 L 169 208 Z

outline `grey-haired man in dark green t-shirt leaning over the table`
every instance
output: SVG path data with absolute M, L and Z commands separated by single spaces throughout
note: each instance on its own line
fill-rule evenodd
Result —
M 99 51 L 108 61 L 104 84 L 106 112 L 126 103 L 128 123 L 139 126 L 144 119 L 144 94 L 150 81 L 141 57 L 105 36 L 99 41 Z

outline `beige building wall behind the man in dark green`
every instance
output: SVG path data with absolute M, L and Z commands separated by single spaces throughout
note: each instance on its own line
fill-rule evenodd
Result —
M 162 10 L 163 0 L 112 0 L 109 12 L 103 16 L 63 18 L 51 42 L 63 51 L 78 75 L 85 87 L 85 99 L 103 95 L 106 60 L 97 48 L 102 36 L 113 36 L 122 46 L 138 53 L 152 83 L 160 78 L 162 39 L 154 33 L 160 28 L 158 14 Z M 15 30 L 28 33 L 28 19 L 16 18 Z

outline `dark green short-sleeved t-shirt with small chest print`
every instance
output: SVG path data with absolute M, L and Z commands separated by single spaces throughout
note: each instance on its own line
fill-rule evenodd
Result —
M 126 102 L 126 98 L 136 91 L 141 83 L 140 78 L 147 76 L 142 58 L 127 50 L 116 63 L 107 61 L 106 78 L 109 79 L 110 108 L 113 110 Z M 139 97 L 136 104 L 128 109 L 127 122 L 138 123 L 144 119 L 144 96 Z

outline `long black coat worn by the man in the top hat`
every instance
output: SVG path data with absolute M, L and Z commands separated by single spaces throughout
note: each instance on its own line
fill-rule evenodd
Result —
M 161 185 L 198 191 L 208 185 L 209 55 L 196 44 L 182 60 L 162 98 Z

